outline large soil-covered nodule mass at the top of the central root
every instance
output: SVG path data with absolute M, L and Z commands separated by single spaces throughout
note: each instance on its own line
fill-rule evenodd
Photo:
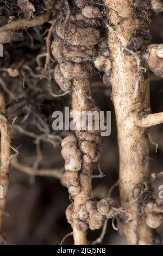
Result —
M 57 36 L 52 54 L 58 64 L 54 78 L 61 90 L 71 90 L 74 79 L 90 79 L 94 67 L 109 76 L 111 62 L 104 28 L 101 1 L 65 1 L 64 12 L 58 15 Z M 92 65 L 93 64 L 93 65 Z

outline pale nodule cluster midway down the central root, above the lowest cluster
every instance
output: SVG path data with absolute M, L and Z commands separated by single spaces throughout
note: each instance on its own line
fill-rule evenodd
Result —
M 65 160 L 66 170 L 62 180 L 73 198 L 81 190 L 79 171 L 82 169 L 83 162 L 96 163 L 99 161 L 101 154 L 97 144 L 91 141 L 78 143 L 77 138 L 73 135 L 62 140 L 61 154 Z

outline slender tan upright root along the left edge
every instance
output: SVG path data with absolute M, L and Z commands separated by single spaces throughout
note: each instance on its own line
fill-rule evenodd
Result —
M 1 170 L 0 170 L 0 244 L 6 244 L 6 240 L 2 236 L 2 217 L 4 214 L 5 201 L 7 197 L 9 185 L 10 171 L 10 125 L 6 117 L 5 101 L 0 93 L 0 132 L 1 132 Z

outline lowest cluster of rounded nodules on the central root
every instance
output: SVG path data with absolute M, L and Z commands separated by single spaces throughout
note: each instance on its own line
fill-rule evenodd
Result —
M 78 212 L 78 221 L 76 228 L 79 231 L 101 229 L 106 219 L 114 218 L 116 210 L 114 201 L 111 198 L 104 198 L 97 201 L 88 200 L 82 205 Z M 73 204 L 66 209 L 68 223 L 73 224 Z

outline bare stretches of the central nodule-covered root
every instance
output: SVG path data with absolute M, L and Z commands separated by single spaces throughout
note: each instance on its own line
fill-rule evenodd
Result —
M 76 121 L 78 120 L 78 114 L 80 115 L 82 111 L 90 111 L 92 107 L 95 106 L 95 102 L 92 100 L 91 91 L 90 91 L 90 81 L 89 80 L 74 80 L 73 82 L 73 92 L 72 92 L 72 107 L 74 111 L 74 125 L 76 125 Z M 77 113 L 77 114 L 76 114 Z M 80 118 L 79 118 L 80 119 Z M 89 137 L 87 131 L 76 131 L 77 138 L 79 140 Z M 95 138 L 95 134 L 93 134 Z M 92 137 L 92 141 L 93 141 Z M 99 139 L 100 141 L 100 139 Z M 79 216 L 78 212 L 80 211 L 82 205 L 85 205 L 86 202 L 91 197 L 91 178 L 88 178 L 86 175 L 90 176 L 92 174 L 92 163 L 83 162 L 82 169 L 80 170 L 79 174 L 79 181 L 81 191 L 80 193 L 74 198 L 74 206 L 73 206 L 73 237 L 74 237 L 74 244 L 75 245 L 87 245 L 87 236 L 86 230 L 78 230 L 78 222 Z

